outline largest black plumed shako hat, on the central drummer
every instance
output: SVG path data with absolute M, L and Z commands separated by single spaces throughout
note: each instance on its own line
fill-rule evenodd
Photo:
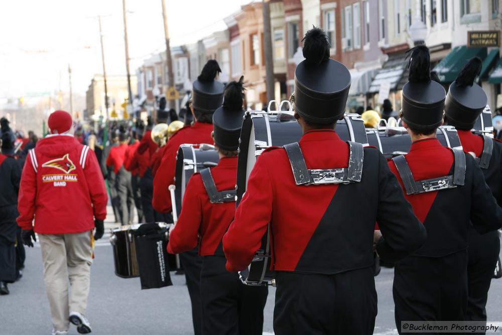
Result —
M 295 111 L 308 122 L 331 124 L 345 113 L 350 72 L 329 58 L 329 42 L 320 28 L 303 38 L 302 61 L 295 70 Z

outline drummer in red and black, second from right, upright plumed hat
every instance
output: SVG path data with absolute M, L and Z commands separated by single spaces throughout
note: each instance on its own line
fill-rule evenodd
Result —
M 409 154 L 393 158 L 389 166 L 427 229 L 427 242 L 395 264 L 393 294 L 400 333 L 404 320 L 464 319 L 469 218 L 480 233 L 502 226 L 502 208 L 471 155 L 445 148 L 436 139 L 446 92 L 431 80 L 427 47 L 412 49 L 409 68 L 401 119 L 412 146 Z

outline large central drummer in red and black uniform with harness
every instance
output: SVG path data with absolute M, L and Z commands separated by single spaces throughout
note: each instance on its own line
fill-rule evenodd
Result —
M 334 131 L 344 115 L 350 73 L 329 59 L 321 29 L 307 32 L 303 55 L 294 95 L 303 136 L 258 157 L 223 237 L 226 268 L 248 266 L 270 222 L 274 332 L 370 334 L 377 309 L 374 246 L 380 256 L 398 259 L 420 248 L 426 232 L 384 156 L 343 142 Z M 383 238 L 374 234 L 375 220 Z

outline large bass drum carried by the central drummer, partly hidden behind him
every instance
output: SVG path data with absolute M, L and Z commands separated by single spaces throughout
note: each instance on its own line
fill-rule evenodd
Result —
M 357 114 L 347 114 L 336 123 L 336 132 L 343 141 L 368 145 L 364 122 Z M 271 146 L 298 142 L 302 137 L 300 125 L 290 112 L 247 111 L 239 139 L 237 163 L 237 206 L 246 190 L 247 179 L 255 166 L 257 157 Z M 246 285 L 267 285 L 274 282 L 270 271 L 270 224 L 248 268 L 240 271 L 241 281 Z

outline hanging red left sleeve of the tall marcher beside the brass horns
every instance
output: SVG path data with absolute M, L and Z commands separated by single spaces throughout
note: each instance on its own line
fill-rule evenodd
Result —
M 161 213 L 170 213 L 172 211 L 169 185 L 174 184 L 177 153 L 178 148 L 175 145 L 169 145 L 168 142 L 164 150 L 164 157 L 160 163 L 158 173 L 156 173 L 154 177 L 152 206 Z

